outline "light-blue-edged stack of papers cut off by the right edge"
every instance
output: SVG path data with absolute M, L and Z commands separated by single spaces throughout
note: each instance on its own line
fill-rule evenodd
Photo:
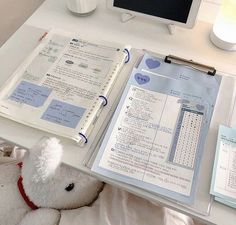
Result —
M 220 126 L 210 193 L 236 208 L 236 130 Z

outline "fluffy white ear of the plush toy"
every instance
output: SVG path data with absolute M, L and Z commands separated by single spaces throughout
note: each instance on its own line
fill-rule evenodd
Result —
M 31 168 L 34 182 L 44 182 L 55 175 L 61 163 L 62 153 L 62 145 L 57 138 L 42 138 L 30 149 L 28 159 L 24 163 L 28 169 Z

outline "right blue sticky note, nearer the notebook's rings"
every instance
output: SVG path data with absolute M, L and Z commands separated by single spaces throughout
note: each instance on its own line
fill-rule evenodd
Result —
M 85 112 L 85 108 L 52 100 L 41 119 L 65 127 L 75 128 Z

